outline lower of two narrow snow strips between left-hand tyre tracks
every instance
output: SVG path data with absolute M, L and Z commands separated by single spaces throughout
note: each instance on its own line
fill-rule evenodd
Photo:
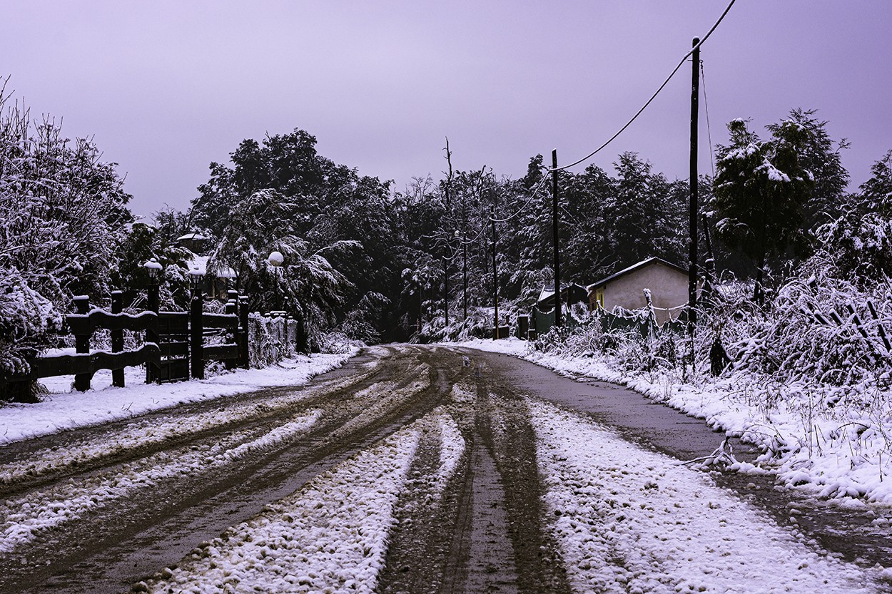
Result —
M 19 499 L 0 502 L 0 553 L 6 553 L 70 520 L 105 507 L 138 489 L 151 489 L 161 481 L 184 474 L 207 472 L 248 456 L 300 438 L 322 417 L 321 410 L 293 417 L 268 432 L 221 436 L 218 441 L 185 450 L 160 452 L 138 462 L 118 467 L 115 474 L 97 474 L 92 479 L 62 484 L 48 492 L 29 492 Z M 244 441 L 245 439 L 249 441 Z

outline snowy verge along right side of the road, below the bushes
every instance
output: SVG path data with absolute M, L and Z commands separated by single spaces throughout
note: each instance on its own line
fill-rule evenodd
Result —
M 766 378 L 730 378 L 685 384 L 668 373 L 623 373 L 606 359 L 573 358 L 534 351 L 529 342 L 509 338 L 475 340 L 463 346 L 527 359 L 566 375 L 625 384 L 654 400 L 703 418 L 767 450 L 760 470 L 776 472 L 789 486 L 840 504 L 864 501 L 892 505 L 892 409 L 888 389 L 852 386 L 778 385 Z M 851 393 L 863 406 L 851 402 Z M 825 402 L 838 398 L 836 408 Z M 856 399 L 856 400 L 858 400 Z M 766 407 L 765 402 L 772 402 Z M 843 403 L 847 403 L 846 406 Z M 740 470 L 755 470 L 746 464 Z M 878 522 L 884 520 L 879 519 Z

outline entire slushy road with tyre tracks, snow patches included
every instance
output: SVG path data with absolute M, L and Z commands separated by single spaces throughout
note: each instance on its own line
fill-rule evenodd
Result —
M 892 570 L 847 563 L 663 453 L 714 447 L 708 429 L 671 411 L 648 428 L 639 417 L 670 414 L 653 405 L 594 413 L 507 360 L 376 348 L 301 388 L 12 442 L 0 448 L 0 591 L 892 585 Z

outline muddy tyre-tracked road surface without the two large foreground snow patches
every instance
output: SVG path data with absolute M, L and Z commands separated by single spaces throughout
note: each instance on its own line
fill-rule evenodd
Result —
M 164 580 L 190 551 L 201 557 L 196 547 L 409 426 L 420 429 L 376 591 L 570 592 L 543 508 L 527 394 L 681 458 L 719 439 L 647 402 L 659 410 L 653 423 L 616 409 L 616 398 L 597 405 L 577 392 L 598 386 L 544 373 L 475 351 L 381 347 L 300 388 L 13 443 L 0 449 L 0 592 L 168 591 Z M 463 443 L 442 481 L 448 427 L 434 413 Z M 892 557 L 872 540 L 838 549 L 865 563 Z

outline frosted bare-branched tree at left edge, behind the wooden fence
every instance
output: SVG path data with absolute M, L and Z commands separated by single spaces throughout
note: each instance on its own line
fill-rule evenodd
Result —
M 0 360 L 45 346 L 46 320 L 72 294 L 108 294 L 132 220 L 115 167 L 92 139 L 66 138 L 47 116 L 32 120 L 0 88 L 0 276 L 7 297 L 18 295 L 0 304 L 4 336 L 15 339 Z

